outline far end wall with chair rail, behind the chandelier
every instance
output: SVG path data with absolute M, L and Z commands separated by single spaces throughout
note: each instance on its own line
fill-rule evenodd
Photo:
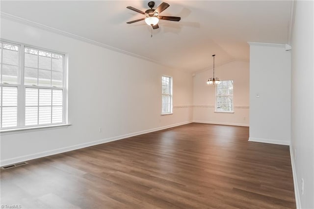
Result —
M 193 121 L 199 123 L 249 125 L 249 63 L 233 61 L 215 67 L 220 80 L 234 80 L 234 112 L 215 111 L 215 86 L 207 85 L 212 69 L 196 73 L 193 78 Z

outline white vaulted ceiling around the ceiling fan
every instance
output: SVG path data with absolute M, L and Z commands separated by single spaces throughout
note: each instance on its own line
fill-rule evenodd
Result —
M 156 0 L 156 6 L 162 1 Z M 163 65 L 196 72 L 231 60 L 249 60 L 247 42 L 288 43 L 289 0 L 165 0 L 163 16 L 153 30 L 144 16 L 146 1 L 3 1 L 1 12 L 131 52 Z M 155 8 L 156 8 L 155 6 Z

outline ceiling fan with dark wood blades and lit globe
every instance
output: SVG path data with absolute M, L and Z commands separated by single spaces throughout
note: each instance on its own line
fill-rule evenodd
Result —
M 159 28 L 158 21 L 159 20 L 170 20 L 170 21 L 180 21 L 181 17 L 172 17 L 172 16 L 160 16 L 159 14 L 164 11 L 166 8 L 168 8 L 170 5 L 168 3 L 162 2 L 156 9 L 153 9 L 155 6 L 154 1 L 148 2 L 148 6 L 150 9 L 146 10 L 145 12 L 142 12 L 141 10 L 138 10 L 134 7 L 128 6 L 128 9 L 133 10 L 134 12 L 141 13 L 142 15 L 145 15 L 145 18 L 141 18 L 138 20 L 133 20 L 128 22 L 127 24 L 136 23 L 142 20 L 145 20 L 146 24 L 149 26 L 152 26 L 153 29 Z

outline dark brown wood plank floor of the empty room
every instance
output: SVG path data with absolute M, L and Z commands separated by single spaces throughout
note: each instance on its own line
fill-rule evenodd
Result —
M 288 146 L 248 127 L 192 123 L 1 170 L 1 204 L 25 208 L 295 208 Z

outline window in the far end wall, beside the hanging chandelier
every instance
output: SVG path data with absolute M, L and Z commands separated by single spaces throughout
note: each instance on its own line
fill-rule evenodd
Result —
M 222 80 L 216 85 L 216 111 L 234 111 L 234 81 Z

